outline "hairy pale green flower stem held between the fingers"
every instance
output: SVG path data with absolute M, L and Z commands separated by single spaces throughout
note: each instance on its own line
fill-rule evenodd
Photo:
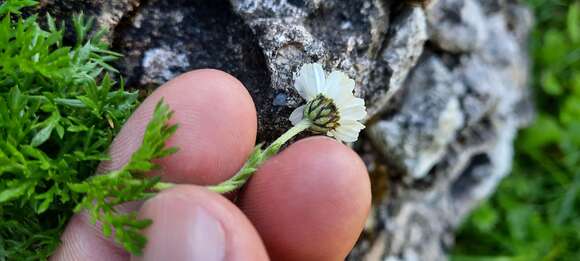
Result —
M 278 153 L 280 148 L 286 144 L 286 142 L 304 130 L 308 129 L 310 126 L 311 123 L 309 120 L 302 120 L 294 127 L 290 128 L 288 131 L 282 134 L 282 136 L 277 138 L 274 142 L 272 142 L 272 144 L 270 144 L 270 146 L 268 146 L 265 150 L 261 150 L 258 147 L 257 150 L 260 150 L 258 154 L 252 155 L 252 157 L 248 159 L 246 163 L 244 163 L 244 166 L 238 170 L 234 176 L 220 184 L 207 186 L 207 189 L 213 192 L 224 194 L 242 187 L 244 184 L 246 184 L 254 172 L 256 172 L 256 170 L 258 170 L 258 168 L 261 167 L 264 162 L 266 162 L 266 160 Z

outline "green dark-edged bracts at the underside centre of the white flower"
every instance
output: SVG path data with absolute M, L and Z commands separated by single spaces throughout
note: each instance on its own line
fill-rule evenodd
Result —
M 322 94 L 306 104 L 304 117 L 312 122 L 310 130 L 314 133 L 327 133 L 340 125 L 340 115 L 334 101 Z

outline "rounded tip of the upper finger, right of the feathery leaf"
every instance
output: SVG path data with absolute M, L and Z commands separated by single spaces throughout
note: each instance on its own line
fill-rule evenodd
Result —
M 207 185 L 229 178 L 256 140 L 256 110 L 246 88 L 213 69 L 186 73 L 166 88 L 180 126 L 167 142 L 180 151 L 160 161 L 171 181 Z

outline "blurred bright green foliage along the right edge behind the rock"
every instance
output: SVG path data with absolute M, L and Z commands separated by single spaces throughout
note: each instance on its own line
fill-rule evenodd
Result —
M 452 260 L 580 260 L 580 1 L 523 0 L 537 118 L 512 174 L 456 236 Z

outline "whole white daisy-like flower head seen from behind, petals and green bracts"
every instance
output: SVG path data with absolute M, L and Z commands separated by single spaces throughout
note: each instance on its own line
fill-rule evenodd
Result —
M 306 100 L 290 115 L 292 124 L 304 119 L 309 129 L 343 142 L 354 142 L 365 128 L 361 123 L 366 116 L 364 100 L 354 96 L 354 80 L 339 71 L 328 76 L 322 65 L 305 64 L 296 77 L 294 88 Z

